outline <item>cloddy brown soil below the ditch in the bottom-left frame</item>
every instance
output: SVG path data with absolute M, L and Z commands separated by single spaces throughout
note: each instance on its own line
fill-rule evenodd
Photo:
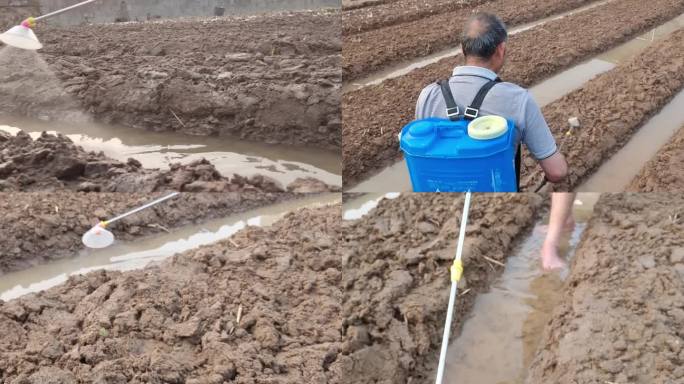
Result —
M 338 383 L 340 207 L 0 302 L 6 383 Z

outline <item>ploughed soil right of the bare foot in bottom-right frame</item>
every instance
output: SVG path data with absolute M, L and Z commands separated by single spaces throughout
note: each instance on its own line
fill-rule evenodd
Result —
M 604 195 L 527 383 L 684 382 L 679 194 Z

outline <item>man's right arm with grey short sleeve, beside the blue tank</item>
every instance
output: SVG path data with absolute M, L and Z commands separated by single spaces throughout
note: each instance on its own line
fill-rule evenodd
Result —
M 558 152 L 551 129 L 529 92 L 526 99 L 523 106 L 525 127 L 522 140 L 532 156 L 539 162 L 546 179 L 552 183 L 559 183 L 568 175 L 568 163 Z

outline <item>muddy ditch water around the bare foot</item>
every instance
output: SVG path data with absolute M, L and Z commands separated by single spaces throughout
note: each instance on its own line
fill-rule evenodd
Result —
M 597 198 L 598 194 L 580 194 L 575 201 L 577 224 L 561 248 L 568 259 L 574 254 Z M 513 250 L 503 274 L 489 292 L 477 297 L 460 336 L 449 345 L 445 382 L 523 382 L 568 273 L 541 271 L 539 249 L 544 241 L 544 224 L 538 223 Z

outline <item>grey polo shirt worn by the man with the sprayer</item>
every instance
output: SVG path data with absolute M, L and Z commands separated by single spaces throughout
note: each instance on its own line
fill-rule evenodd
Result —
M 496 79 L 496 73 L 487 68 L 462 66 L 454 69 L 449 79 L 451 92 L 461 114 L 473 102 L 475 95 L 487 83 Z M 515 122 L 515 143 L 521 141 L 537 160 L 556 153 L 556 141 L 551 134 L 541 109 L 530 92 L 512 83 L 499 83 L 485 97 L 480 115 L 498 115 Z M 446 118 L 446 103 L 436 83 L 425 87 L 416 104 L 416 119 L 428 117 Z

